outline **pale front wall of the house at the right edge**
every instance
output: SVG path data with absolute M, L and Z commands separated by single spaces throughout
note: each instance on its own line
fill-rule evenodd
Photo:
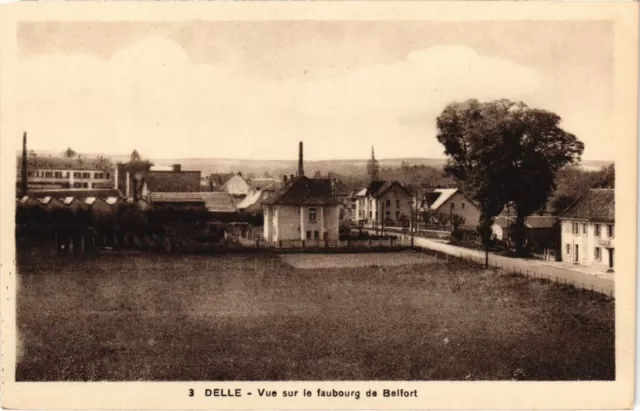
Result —
M 573 223 L 578 223 L 577 234 L 573 232 Z M 586 234 L 583 231 L 583 224 L 586 224 Z M 597 237 L 595 235 L 596 223 L 577 220 L 563 220 L 561 226 L 562 261 L 575 263 L 575 247 L 578 245 L 577 264 L 587 266 L 592 265 L 602 269 L 607 269 L 609 267 L 610 251 L 606 245 L 601 244 L 601 241 L 611 241 L 611 245 L 614 247 L 613 239 L 615 238 L 615 231 L 612 237 L 608 236 L 607 225 L 607 223 L 600 224 L 600 236 Z M 595 258 L 596 247 L 600 248 L 601 258 L 599 260 Z

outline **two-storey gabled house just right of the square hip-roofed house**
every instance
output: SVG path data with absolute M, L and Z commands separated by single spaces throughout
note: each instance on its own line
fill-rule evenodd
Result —
M 413 196 L 397 181 L 373 181 L 355 196 L 355 214 L 361 227 L 401 225 L 411 219 Z

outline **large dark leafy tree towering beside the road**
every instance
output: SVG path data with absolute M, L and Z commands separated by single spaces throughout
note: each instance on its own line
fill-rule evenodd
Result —
M 584 144 L 560 120 L 509 100 L 452 103 L 438 117 L 437 138 L 449 157 L 445 170 L 480 205 L 486 245 L 493 219 L 512 202 L 516 251 L 523 254 L 525 218 L 546 206 L 556 172 L 579 161 Z

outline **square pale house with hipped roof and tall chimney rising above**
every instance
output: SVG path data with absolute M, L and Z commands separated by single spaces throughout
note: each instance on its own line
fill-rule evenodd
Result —
M 330 179 L 312 179 L 304 175 L 302 142 L 298 174 L 273 198 L 264 201 L 264 239 L 319 244 L 338 241 L 340 204 Z

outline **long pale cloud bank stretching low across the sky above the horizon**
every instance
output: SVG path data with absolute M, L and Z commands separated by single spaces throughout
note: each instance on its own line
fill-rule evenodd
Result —
M 402 118 L 424 112 L 435 119 L 452 100 L 522 98 L 540 87 L 529 67 L 457 46 L 322 81 L 267 81 L 233 57 L 195 64 L 163 38 L 144 39 L 109 60 L 43 55 L 22 61 L 20 73 L 11 120 L 29 130 L 33 146 L 109 153 L 135 147 L 154 157 L 283 158 L 299 139 L 313 147 L 310 158 L 361 157 L 390 136 L 396 141 L 378 152 L 413 155 L 398 141 L 436 147 L 425 138 L 435 123 L 409 127 Z

